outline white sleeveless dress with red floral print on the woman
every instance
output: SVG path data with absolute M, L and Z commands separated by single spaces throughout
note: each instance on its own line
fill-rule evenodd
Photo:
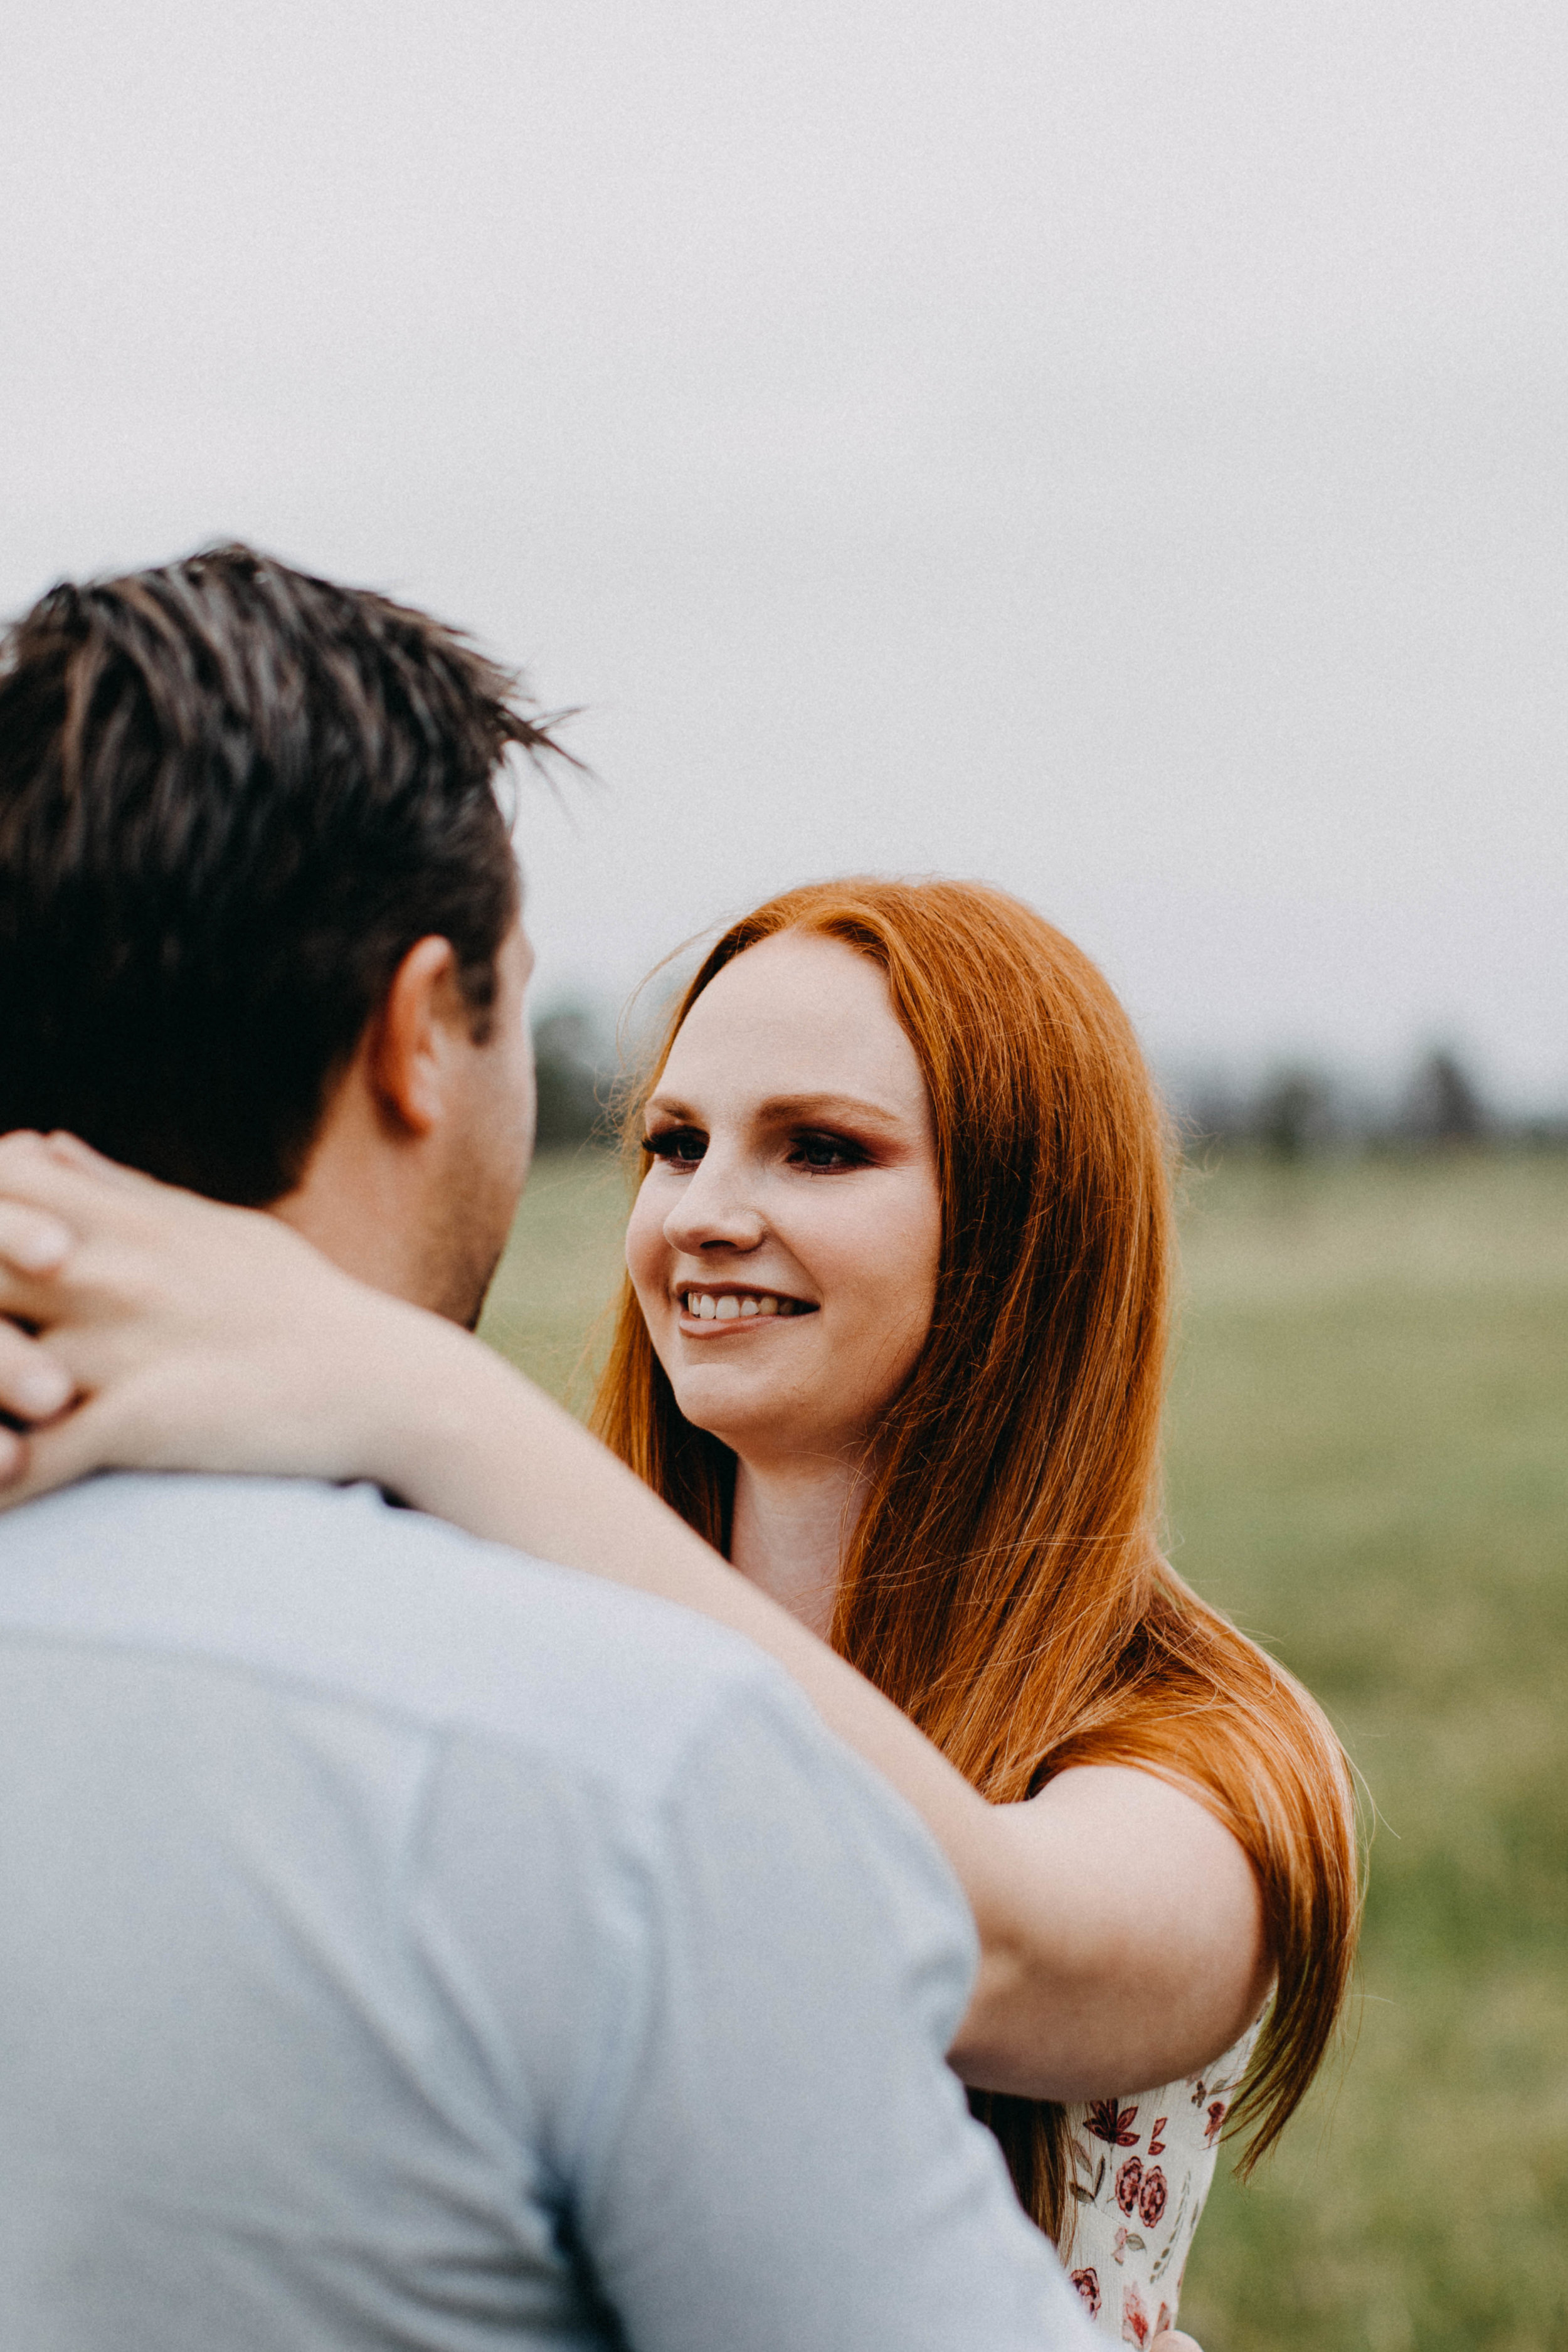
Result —
M 1063 2260 L 1103 2336 L 1150 2345 L 1175 2326 L 1192 2232 L 1258 2025 L 1204 2074 L 1067 2107 Z

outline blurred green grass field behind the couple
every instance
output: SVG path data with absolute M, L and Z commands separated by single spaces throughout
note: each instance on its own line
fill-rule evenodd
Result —
M 614 1164 L 545 1160 L 487 1336 L 581 1402 Z M 1349 2049 L 1211 2201 L 1206 2352 L 1568 2352 L 1568 1160 L 1185 1185 L 1182 1573 L 1375 1806 Z M 576 1385 L 574 1385 L 576 1371 Z

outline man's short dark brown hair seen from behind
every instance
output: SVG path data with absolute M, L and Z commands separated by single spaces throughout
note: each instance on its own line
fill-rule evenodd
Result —
M 484 1035 L 496 769 L 557 750 L 529 708 L 425 614 L 249 548 L 52 588 L 0 640 L 0 1131 L 280 1200 L 418 938 Z

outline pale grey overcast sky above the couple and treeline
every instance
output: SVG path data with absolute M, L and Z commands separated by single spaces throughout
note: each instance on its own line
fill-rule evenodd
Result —
M 1566 125 L 1509 0 L 52 0 L 0 602 L 244 536 L 585 703 L 545 997 L 947 870 L 1563 1101 Z

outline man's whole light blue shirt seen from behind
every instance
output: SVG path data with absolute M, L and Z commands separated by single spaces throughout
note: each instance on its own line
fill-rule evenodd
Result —
M 0 1519 L 0 2345 L 1041 2352 L 922 1823 L 682 1609 L 369 1489 Z

